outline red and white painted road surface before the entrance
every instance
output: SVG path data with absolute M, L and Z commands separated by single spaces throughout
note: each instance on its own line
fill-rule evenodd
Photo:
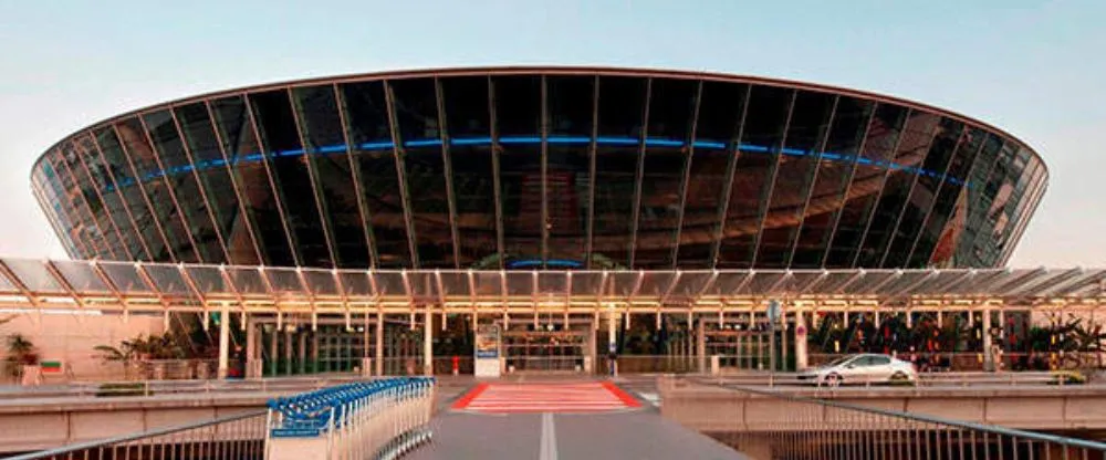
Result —
M 480 384 L 452 405 L 487 414 L 607 412 L 641 404 L 609 381 Z

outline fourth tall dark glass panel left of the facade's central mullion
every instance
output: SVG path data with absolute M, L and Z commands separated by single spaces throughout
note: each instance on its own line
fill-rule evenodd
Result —
M 384 84 L 361 82 L 338 87 L 349 124 L 354 166 L 368 208 L 368 230 L 376 243 L 371 249 L 376 251 L 378 266 L 413 266 Z

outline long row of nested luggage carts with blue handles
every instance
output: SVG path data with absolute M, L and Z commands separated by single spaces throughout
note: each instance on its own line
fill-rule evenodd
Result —
M 430 439 L 435 380 L 397 377 L 269 401 L 267 459 L 394 458 Z

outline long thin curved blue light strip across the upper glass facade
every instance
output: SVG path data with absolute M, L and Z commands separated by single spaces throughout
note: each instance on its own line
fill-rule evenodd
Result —
M 592 138 L 588 137 L 588 136 L 551 136 L 551 137 L 546 138 L 545 140 L 549 144 L 551 144 L 551 145 L 589 145 L 592 143 Z M 502 136 L 502 137 L 499 138 L 499 144 L 500 145 L 533 145 L 533 144 L 541 144 L 541 143 L 542 143 L 541 136 Z M 596 145 L 602 145 L 602 146 L 639 146 L 639 145 L 641 145 L 641 140 L 639 138 L 636 138 L 636 137 L 599 136 L 599 137 L 595 138 L 595 144 Z M 404 147 L 405 148 L 411 148 L 411 149 L 418 149 L 418 148 L 422 148 L 422 147 L 438 147 L 438 146 L 441 146 L 441 145 L 442 145 L 442 140 L 439 139 L 439 138 L 411 139 L 411 140 L 404 142 Z M 457 138 L 449 139 L 449 145 L 450 146 L 490 146 L 490 145 L 492 145 L 492 138 L 491 137 L 457 137 Z M 666 138 L 657 138 L 657 137 L 648 137 L 648 138 L 645 139 L 645 146 L 646 147 L 674 147 L 674 148 L 682 148 L 686 145 L 687 145 L 686 142 L 684 142 L 684 140 L 676 140 L 676 139 L 666 139 Z M 695 148 L 714 149 L 714 150 L 724 150 L 724 149 L 729 148 L 728 143 L 722 143 L 722 142 L 718 142 L 718 140 L 710 140 L 710 139 L 699 139 L 699 140 L 696 140 L 693 143 L 691 143 L 691 146 L 695 147 Z M 392 150 L 394 148 L 395 148 L 395 144 L 393 142 L 390 142 L 390 140 L 374 140 L 374 142 L 368 142 L 368 143 L 362 143 L 361 145 L 357 146 L 357 149 L 359 149 L 359 150 L 366 150 L 366 151 Z M 824 159 L 824 160 L 842 161 L 842 163 L 849 163 L 849 164 L 852 164 L 852 163 L 855 161 L 858 165 L 876 166 L 876 167 L 879 167 L 879 168 L 890 169 L 890 170 L 895 170 L 895 171 L 906 171 L 908 174 L 914 174 L 914 175 L 919 175 L 919 176 L 929 176 L 929 177 L 932 177 L 932 178 L 936 178 L 936 179 L 940 179 L 942 177 L 942 174 L 939 172 L 939 171 L 932 171 L 932 170 L 922 169 L 922 168 L 918 168 L 918 167 L 914 167 L 914 166 L 900 165 L 900 164 L 897 164 L 897 163 L 894 163 L 894 161 L 874 160 L 874 159 L 870 159 L 870 158 L 865 158 L 865 157 L 856 156 L 856 155 L 835 154 L 833 151 L 823 151 L 823 153 L 818 154 L 817 151 L 813 151 L 813 150 L 802 150 L 802 149 L 797 149 L 797 148 L 776 148 L 776 147 L 769 147 L 769 146 L 753 145 L 753 144 L 739 144 L 738 145 L 738 149 L 740 151 L 747 153 L 747 154 L 772 154 L 773 151 L 779 151 L 781 155 L 787 155 L 787 156 L 794 156 L 794 157 L 816 156 L 816 157 L 818 157 L 821 159 Z M 143 175 L 142 176 L 142 180 L 144 182 L 148 182 L 150 180 L 158 179 L 158 178 L 164 177 L 164 176 L 177 176 L 177 175 L 181 175 L 181 174 L 188 174 L 188 172 L 191 172 L 194 169 L 198 170 L 198 171 L 202 171 L 202 170 L 207 170 L 207 169 L 211 169 L 211 168 L 225 167 L 225 166 L 228 166 L 228 163 L 232 167 L 237 166 L 237 165 L 242 165 L 242 164 L 257 163 L 257 161 L 263 160 L 265 158 L 265 156 L 268 156 L 269 158 L 289 158 L 289 157 L 301 157 L 301 156 L 304 156 L 304 155 L 324 156 L 324 155 L 331 155 L 331 154 L 344 155 L 344 154 L 348 154 L 348 153 L 349 153 L 348 148 L 346 148 L 346 146 L 343 145 L 343 144 L 321 146 L 321 147 L 313 148 L 310 151 L 306 151 L 306 150 L 304 150 L 302 148 L 296 148 L 296 149 L 291 149 L 291 150 L 271 151 L 271 153 L 269 153 L 269 155 L 262 155 L 261 153 L 251 153 L 251 154 L 243 154 L 243 155 L 233 157 L 229 161 L 223 160 L 221 158 L 197 161 L 195 168 L 191 165 L 184 165 L 184 166 L 175 166 L 175 167 L 168 168 L 166 170 L 150 171 L 150 172 L 147 172 L 147 174 Z M 417 153 L 417 150 L 414 151 L 414 153 Z M 51 171 L 48 171 L 48 175 L 50 172 Z M 960 178 L 956 178 L 956 177 L 951 177 L 951 176 L 945 177 L 945 180 L 947 182 L 949 182 L 949 184 L 957 185 L 957 186 L 966 186 L 966 187 L 969 187 L 969 188 L 972 186 L 971 182 L 968 182 L 968 181 L 964 181 L 964 180 L 962 180 Z M 135 180 L 134 180 L 134 178 L 131 178 L 131 177 L 116 178 L 116 185 L 119 188 L 129 187 L 129 186 L 133 186 L 134 184 L 135 184 Z M 114 189 L 115 189 L 115 187 L 113 187 L 111 185 L 108 185 L 108 186 L 105 187 L 106 191 L 112 191 Z

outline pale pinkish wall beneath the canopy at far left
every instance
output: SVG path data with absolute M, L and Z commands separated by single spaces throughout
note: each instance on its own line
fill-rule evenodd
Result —
M 8 315 L 0 314 L 0 318 Z M 136 316 L 124 322 L 119 315 L 43 314 L 20 315 L 0 324 L 0 337 L 19 333 L 39 349 L 42 360 L 61 359 L 72 369 L 76 380 L 121 380 L 121 365 L 104 364 L 93 351 L 96 345 L 118 346 L 121 341 L 137 335 L 160 334 L 165 322 L 160 316 Z M 6 351 L 0 349 L 0 354 Z M 4 377 L 7 378 L 7 377 Z M 46 383 L 62 377 L 46 377 Z M 0 380 L 2 381 L 2 380 Z

